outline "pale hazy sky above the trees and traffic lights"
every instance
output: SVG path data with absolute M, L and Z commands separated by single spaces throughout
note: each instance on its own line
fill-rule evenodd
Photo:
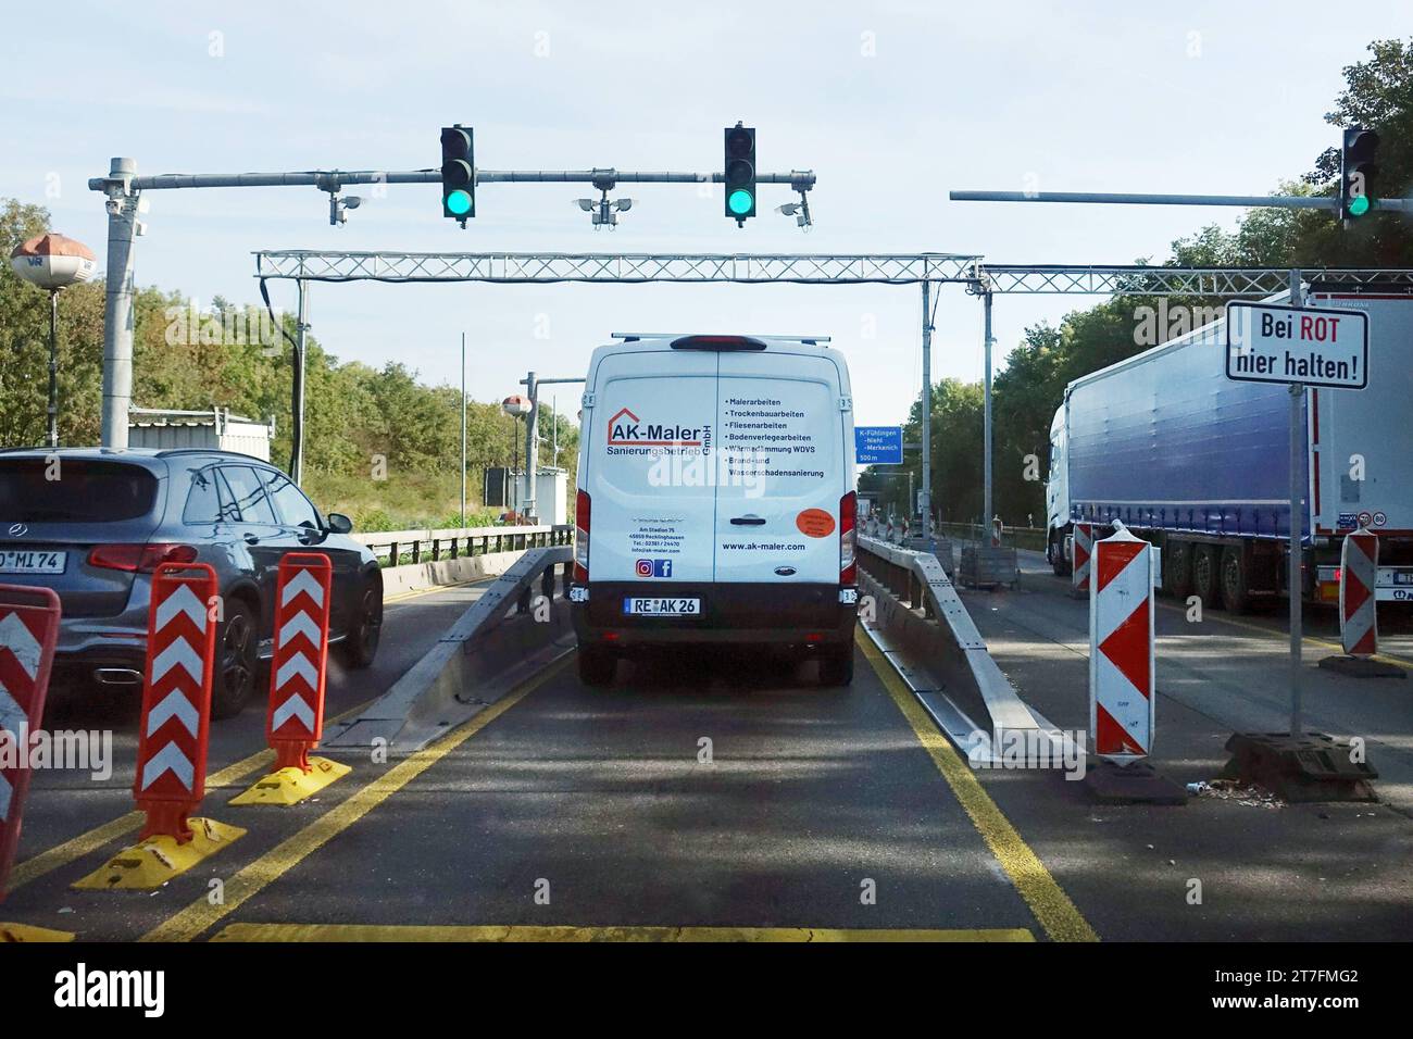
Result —
M 105 259 L 89 177 L 417 170 L 439 127 L 482 168 L 718 171 L 722 127 L 757 127 L 762 171 L 812 170 L 801 233 L 760 188 L 738 229 L 721 187 L 625 185 L 598 230 L 585 185 L 486 184 L 462 230 L 435 184 L 389 185 L 348 223 L 311 187 L 154 191 L 137 281 L 259 300 L 252 252 L 975 253 L 993 263 L 1161 260 L 1238 209 L 951 202 L 950 189 L 1266 194 L 1338 141 L 1345 65 L 1407 34 L 1413 6 L 1231 3 L 143 3 L 7 10 L 0 196 L 49 208 Z M 271 283 L 294 310 L 292 283 Z M 996 365 L 1024 329 L 1094 303 L 1002 295 Z M 829 335 L 855 420 L 899 423 L 920 383 L 920 291 L 851 286 L 317 284 L 312 334 L 343 360 L 400 360 L 499 400 L 527 369 L 581 376 L 620 331 Z M 982 375 L 981 307 L 942 288 L 934 377 Z M 550 387 L 547 387 L 547 394 Z M 574 392 L 558 393 L 572 397 Z M 134 401 L 146 404 L 148 401 Z M 222 401 L 211 401 L 222 403 Z M 574 411 L 561 403 L 561 410 Z

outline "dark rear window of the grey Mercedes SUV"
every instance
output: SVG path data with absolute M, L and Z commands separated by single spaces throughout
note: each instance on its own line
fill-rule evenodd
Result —
M 157 478 L 138 465 L 0 458 L 0 520 L 6 523 L 114 523 L 146 516 L 155 498 Z

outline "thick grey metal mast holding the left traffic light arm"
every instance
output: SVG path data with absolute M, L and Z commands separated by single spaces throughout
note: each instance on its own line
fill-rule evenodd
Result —
M 133 233 L 138 191 L 137 163 L 114 158 L 102 181 L 107 195 L 107 271 L 103 293 L 103 418 L 99 444 L 127 447 L 127 410 L 133 403 Z M 92 184 L 89 187 L 93 187 Z

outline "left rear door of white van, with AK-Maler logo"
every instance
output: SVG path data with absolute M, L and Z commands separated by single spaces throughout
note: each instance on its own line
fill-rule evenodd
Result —
M 591 581 L 712 580 L 716 353 L 609 353 L 593 385 Z

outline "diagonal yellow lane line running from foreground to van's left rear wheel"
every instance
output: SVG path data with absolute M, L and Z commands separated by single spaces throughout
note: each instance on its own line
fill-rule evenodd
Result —
M 362 787 L 357 793 L 342 802 L 338 807 L 319 816 L 307 827 L 285 838 L 254 862 L 226 881 L 225 899 L 220 905 L 211 905 L 202 895 L 175 916 L 153 927 L 143 934 L 141 941 L 191 941 L 208 927 L 219 923 L 223 917 L 239 909 L 247 899 L 259 895 L 268 885 L 280 879 L 311 854 L 322 848 L 331 840 L 348 830 L 369 811 L 386 802 L 410 782 L 422 775 L 432 765 L 465 744 L 486 725 L 524 700 L 552 676 L 564 670 L 572 657 L 562 657 L 540 671 L 534 679 L 520 686 L 519 690 L 496 701 L 465 725 L 452 729 L 435 744 L 418 751 L 394 765 L 384 775 Z

